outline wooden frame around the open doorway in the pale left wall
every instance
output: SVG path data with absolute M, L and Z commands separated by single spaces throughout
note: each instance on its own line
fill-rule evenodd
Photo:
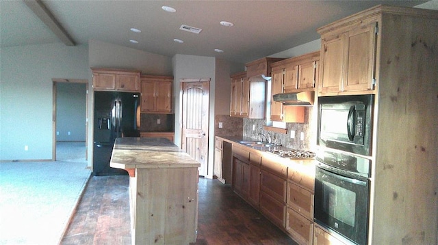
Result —
M 52 161 L 56 160 L 56 84 L 57 83 L 85 83 L 86 85 L 86 122 L 85 122 L 85 159 L 88 160 L 88 79 L 52 78 Z

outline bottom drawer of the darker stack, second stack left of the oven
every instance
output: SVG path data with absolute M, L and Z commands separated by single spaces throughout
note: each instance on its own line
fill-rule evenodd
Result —
M 286 205 L 263 191 L 260 192 L 260 210 L 275 225 L 285 226 Z

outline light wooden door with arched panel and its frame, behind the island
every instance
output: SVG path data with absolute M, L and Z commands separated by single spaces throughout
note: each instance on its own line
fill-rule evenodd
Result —
M 181 148 L 201 163 L 199 175 L 208 174 L 210 78 L 181 79 Z

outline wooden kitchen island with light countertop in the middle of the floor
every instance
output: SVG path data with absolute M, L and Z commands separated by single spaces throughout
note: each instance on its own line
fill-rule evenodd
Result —
M 110 167 L 129 173 L 132 244 L 196 242 L 198 167 L 164 138 L 118 138 Z

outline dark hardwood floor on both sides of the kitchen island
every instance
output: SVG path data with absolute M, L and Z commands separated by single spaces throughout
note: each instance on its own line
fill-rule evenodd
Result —
M 199 179 L 198 239 L 203 244 L 296 244 L 217 179 Z M 127 176 L 92 177 L 62 245 L 131 244 Z

